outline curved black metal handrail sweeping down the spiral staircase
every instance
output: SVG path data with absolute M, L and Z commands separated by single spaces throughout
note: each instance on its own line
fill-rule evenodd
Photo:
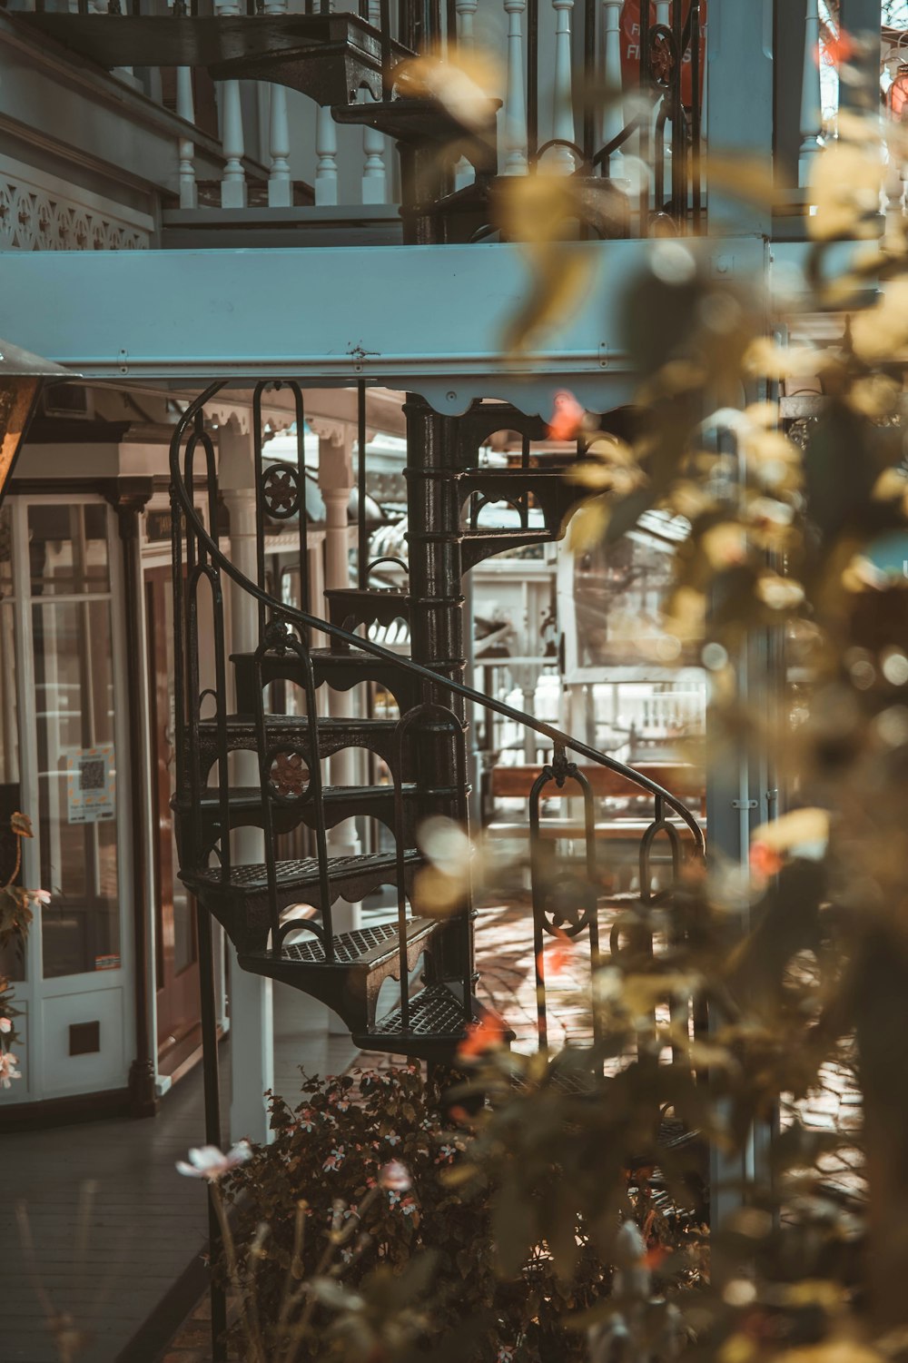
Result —
M 183 481 L 183 472 L 180 469 L 180 448 L 187 428 L 195 420 L 196 413 L 203 410 L 206 402 L 209 402 L 214 394 L 220 393 L 225 386 L 225 382 L 209 384 L 209 387 L 185 409 L 175 428 L 173 436 L 170 438 L 170 480 L 173 489 L 187 517 L 187 522 L 192 523 L 194 534 L 198 541 L 205 545 L 205 549 L 213 563 L 217 563 L 218 567 L 226 572 L 226 575 L 236 582 L 239 587 L 254 597 L 260 605 L 278 611 L 284 619 L 292 620 L 305 630 L 316 630 L 322 634 L 327 634 L 341 643 L 361 649 L 364 653 L 369 653 L 386 662 L 393 662 L 395 667 L 409 672 L 412 676 L 417 676 L 436 688 L 449 691 L 451 695 L 458 695 L 461 699 L 469 701 L 472 705 L 479 705 L 485 710 L 492 710 L 495 714 L 500 714 L 503 718 L 511 720 L 526 729 L 533 729 L 534 733 L 541 733 L 552 744 L 570 748 L 571 752 L 579 754 L 589 762 L 596 762 L 599 766 L 608 767 L 609 771 L 615 771 L 618 776 L 624 777 L 631 782 L 631 785 L 639 786 L 649 795 L 661 797 L 693 833 L 697 852 L 701 856 L 705 853 L 706 842 L 703 831 L 687 806 L 683 804 L 678 796 L 672 795 L 671 791 L 664 789 L 664 786 L 661 786 L 657 781 L 650 780 L 650 777 L 645 776 L 642 771 L 637 771 L 634 767 L 626 766 L 626 763 L 619 762 L 616 758 L 609 758 L 608 754 L 600 752 L 599 748 L 593 748 L 588 743 L 582 743 L 579 739 L 571 737 L 570 733 L 564 733 L 562 729 L 556 729 L 555 725 L 545 724 L 543 720 L 537 720 L 532 714 L 526 714 L 524 710 L 518 710 L 514 706 L 507 705 L 504 701 L 498 701 L 495 696 L 485 695 L 483 691 L 476 691 L 473 687 L 466 686 L 462 682 L 454 682 L 451 677 L 440 676 L 438 672 L 424 667 L 421 662 L 414 662 L 412 658 L 402 657 L 391 649 L 382 647 L 380 643 L 374 643 L 371 639 L 353 634 L 349 630 L 344 630 L 338 624 L 331 624 L 330 620 L 322 620 L 319 616 L 311 615 L 308 611 L 301 611 L 299 607 L 285 605 L 247 578 L 245 574 L 241 572 L 236 564 L 233 564 L 230 559 L 221 552 L 218 544 L 211 538 L 209 532 L 205 529 L 203 522 L 198 518 L 192 496 L 187 491 L 185 483 Z

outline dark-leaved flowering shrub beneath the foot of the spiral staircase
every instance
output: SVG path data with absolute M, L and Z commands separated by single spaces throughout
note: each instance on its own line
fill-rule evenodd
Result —
M 511 1278 L 499 1276 L 492 1189 L 469 1197 L 458 1189 L 472 1137 L 446 1123 L 419 1070 L 305 1078 L 294 1111 L 271 1099 L 271 1127 L 274 1144 L 254 1149 L 220 1184 L 234 1204 L 240 1276 L 254 1274 L 266 1341 L 264 1322 L 274 1336 L 288 1285 L 324 1273 L 334 1239 L 331 1291 L 324 1280 L 314 1288 L 323 1328 L 300 1341 L 300 1359 L 397 1358 L 384 1343 L 382 1313 L 397 1325 L 409 1313 L 410 1334 L 438 1359 L 586 1358 L 584 1334 L 564 1321 L 607 1295 L 608 1269 L 575 1223 L 573 1278 L 559 1278 L 545 1243 Z M 271 1344 L 267 1356 L 282 1358 L 278 1341 Z

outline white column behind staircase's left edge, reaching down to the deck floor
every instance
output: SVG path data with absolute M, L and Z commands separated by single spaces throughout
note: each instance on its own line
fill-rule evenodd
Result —
M 221 427 L 218 481 L 230 515 L 230 560 L 255 581 L 255 474 L 252 436 L 230 417 Z M 252 597 L 233 585 L 229 596 L 230 641 L 236 652 L 258 646 L 258 609 Z M 233 755 L 230 781 L 259 784 L 258 761 L 252 752 Z M 258 829 L 237 829 L 232 837 L 237 863 L 264 860 L 264 836 Z M 274 1022 L 271 980 L 241 970 L 233 946 L 230 953 L 230 1139 L 249 1137 L 269 1141 L 264 1090 L 274 1084 Z

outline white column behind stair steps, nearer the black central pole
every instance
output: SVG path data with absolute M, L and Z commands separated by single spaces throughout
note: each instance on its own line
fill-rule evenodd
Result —
M 348 507 L 353 487 L 353 465 L 350 442 L 341 444 L 333 440 L 319 440 L 319 488 L 324 499 L 324 586 L 348 587 L 350 585 L 350 530 Z M 327 604 L 324 608 L 327 615 Z M 329 691 L 329 711 L 333 718 L 349 718 L 354 713 L 350 691 Z M 353 748 L 338 752 L 330 759 L 331 785 L 357 785 L 357 754 Z M 361 846 L 356 830 L 356 819 L 345 819 L 329 830 L 329 856 L 359 856 Z M 349 932 L 360 925 L 360 905 L 337 900 L 334 904 L 334 931 Z M 329 1013 L 329 1032 L 333 1036 L 346 1036 L 348 1029 L 341 1020 Z

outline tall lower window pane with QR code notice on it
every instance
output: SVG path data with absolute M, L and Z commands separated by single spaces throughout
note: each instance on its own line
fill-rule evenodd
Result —
M 120 965 L 108 601 L 33 607 L 45 976 Z

